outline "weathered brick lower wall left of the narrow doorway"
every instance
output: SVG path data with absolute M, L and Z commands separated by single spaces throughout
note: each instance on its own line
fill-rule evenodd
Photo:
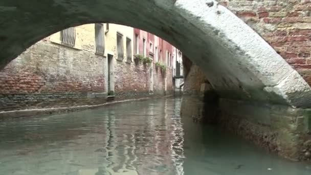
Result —
M 99 104 L 105 58 L 39 41 L 0 72 L 0 110 Z

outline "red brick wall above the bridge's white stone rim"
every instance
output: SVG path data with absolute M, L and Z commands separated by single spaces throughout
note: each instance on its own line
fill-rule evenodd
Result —
M 219 2 L 258 32 L 311 84 L 310 0 Z

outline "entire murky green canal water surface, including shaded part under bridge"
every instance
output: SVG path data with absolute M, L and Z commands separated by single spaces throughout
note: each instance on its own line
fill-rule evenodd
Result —
M 310 164 L 181 117 L 181 103 L 153 99 L 1 121 L 0 174 L 311 174 Z

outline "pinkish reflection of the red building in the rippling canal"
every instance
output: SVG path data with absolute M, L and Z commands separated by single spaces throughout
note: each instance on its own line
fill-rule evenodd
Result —
M 151 103 L 145 106 L 141 128 L 135 132 L 138 157 L 136 168 L 139 174 L 172 174 L 168 121 L 165 119 L 164 103 Z M 138 114 L 139 115 L 139 114 Z M 146 118 L 146 116 L 148 116 Z M 168 117 L 167 117 L 168 118 Z

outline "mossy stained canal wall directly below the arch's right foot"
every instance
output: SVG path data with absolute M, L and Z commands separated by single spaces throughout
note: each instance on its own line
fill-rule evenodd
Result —
M 218 105 L 221 127 L 287 159 L 310 160 L 309 110 L 231 99 Z

